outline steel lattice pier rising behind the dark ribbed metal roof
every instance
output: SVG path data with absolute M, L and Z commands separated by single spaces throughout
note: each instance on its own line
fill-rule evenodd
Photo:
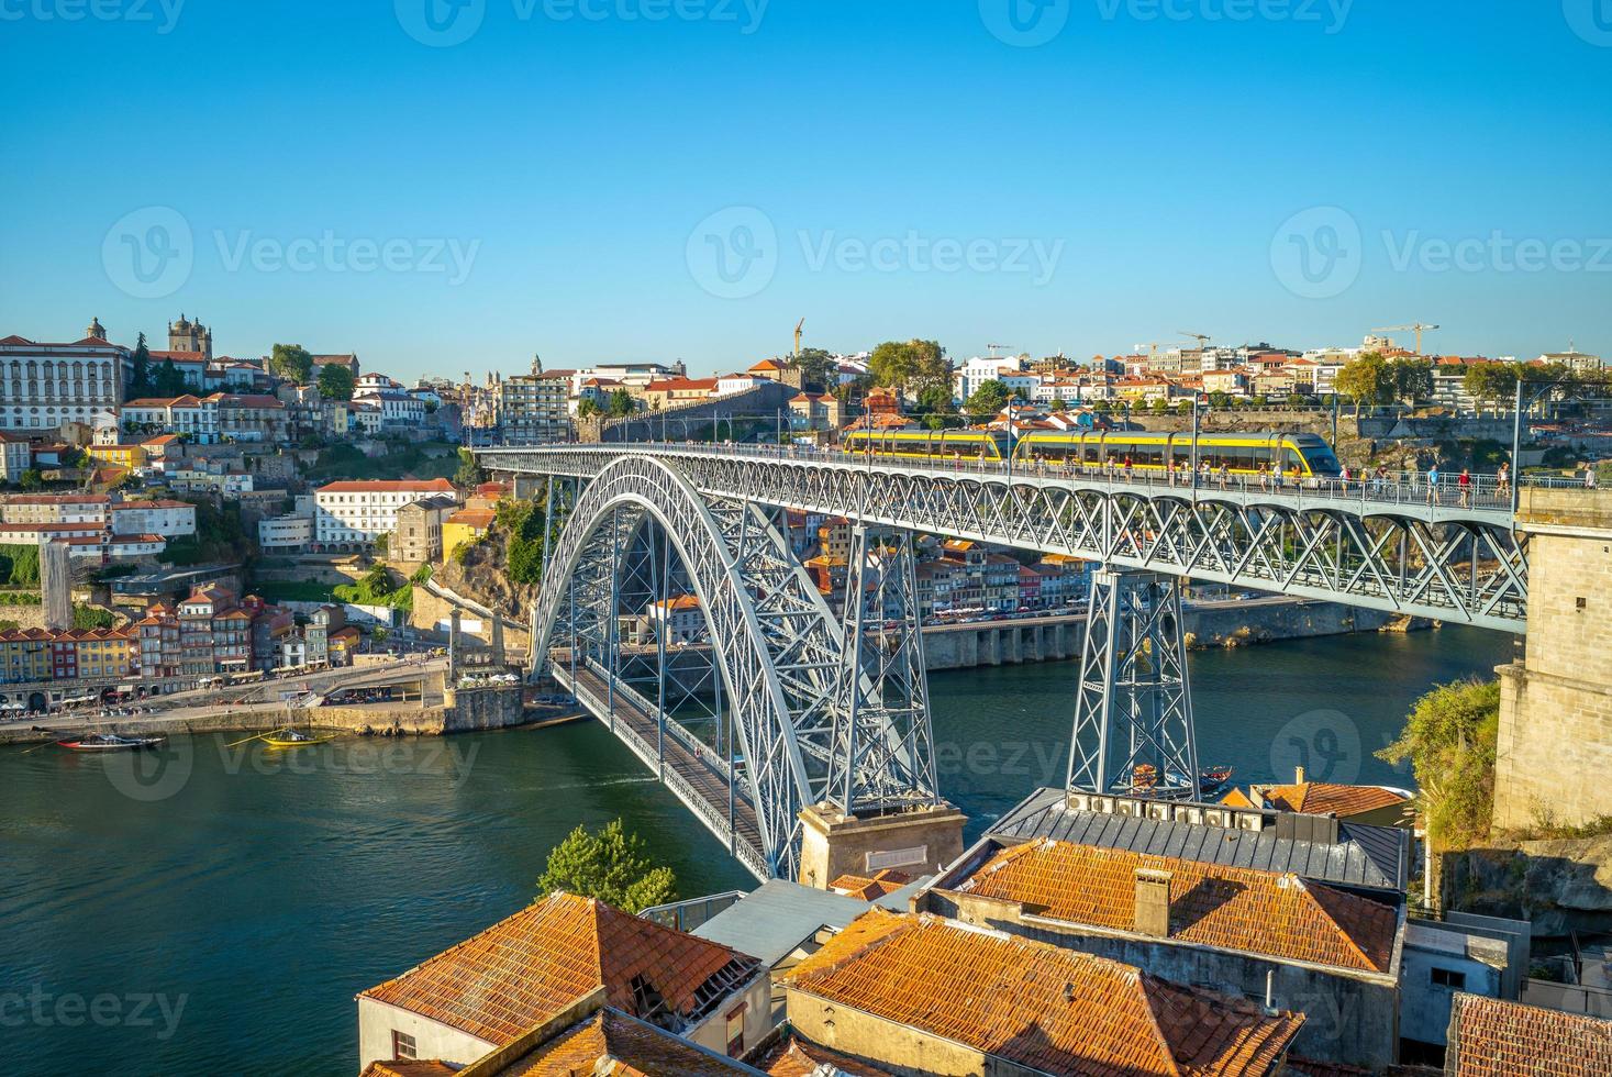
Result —
M 1095 574 L 1069 788 L 1188 800 L 1198 795 L 1198 740 L 1177 577 Z

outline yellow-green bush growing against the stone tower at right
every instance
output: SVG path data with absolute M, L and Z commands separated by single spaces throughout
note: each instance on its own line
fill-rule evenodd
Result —
M 1446 684 L 1417 700 L 1399 738 L 1377 753 L 1410 763 L 1417 809 L 1436 851 L 1470 848 L 1489 832 L 1499 682 Z

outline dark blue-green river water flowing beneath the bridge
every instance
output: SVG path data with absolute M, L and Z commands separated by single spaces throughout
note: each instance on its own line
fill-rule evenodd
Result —
M 1409 785 L 1372 758 L 1435 682 L 1510 638 L 1444 629 L 1193 655 L 1203 761 L 1236 780 Z M 930 679 L 943 792 L 974 837 L 1067 767 L 1077 666 Z M 624 817 L 685 896 L 753 885 L 598 724 L 227 737 L 152 759 L 0 748 L 0 1054 L 11 1072 L 356 1072 L 353 995 L 532 898 L 577 824 Z M 139 769 L 137 769 L 139 767 Z

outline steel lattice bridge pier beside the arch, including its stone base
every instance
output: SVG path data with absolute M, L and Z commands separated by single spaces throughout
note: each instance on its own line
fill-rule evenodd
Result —
M 858 524 L 845 580 L 845 647 L 830 708 L 829 782 L 801 809 L 800 882 L 938 871 L 962 853 L 961 811 L 940 798 L 912 534 Z

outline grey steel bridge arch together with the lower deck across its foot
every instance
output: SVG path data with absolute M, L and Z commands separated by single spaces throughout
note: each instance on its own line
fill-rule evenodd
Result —
M 706 616 L 727 695 L 729 750 L 675 730 L 664 700 L 619 677 L 624 568 L 645 518 L 669 543 Z M 546 556 L 534 653 L 762 877 L 795 877 L 800 811 L 829 784 L 841 634 L 772 519 L 754 503 L 701 497 L 677 469 L 640 455 L 601 468 Z M 675 743 L 653 745 L 658 721 Z M 679 735 L 682 734 L 682 735 Z M 654 753 L 651 758 L 648 753 Z M 711 776 L 727 784 L 717 803 Z M 753 848 L 746 848 L 753 846 Z

